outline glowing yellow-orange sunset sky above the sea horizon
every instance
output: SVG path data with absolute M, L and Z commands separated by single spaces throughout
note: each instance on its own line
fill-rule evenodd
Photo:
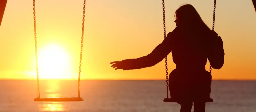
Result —
M 212 28 L 213 0 L 173 0 L 165 4 L 167 32 L 175 28 L 175 10 L 186 3 L 194 5 Z M 7 2 L 0 28 L 2 79 L 36 79 L 32 4 L 31 0 Z M 36 0 L 39 78 L 78 77 L 82 12 L 83 0 Z M 162 1 L 86 1 L 81 78 L 165 79 L 164 61 L 128 71 L 114 70 L 109 64 L 150 53 L 164 39 L 162 18 Z M 256 79 L 255 20 L 251 1 L 217 1 L 215 31 L 224 42 L 225 63 L 212 70 L 213 79 Z M 170 73 L 175 65 L 171 54 L 168 59 Z

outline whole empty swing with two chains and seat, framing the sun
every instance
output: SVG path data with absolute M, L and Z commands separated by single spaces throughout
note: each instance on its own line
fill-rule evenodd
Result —
M 34 10 L 34 31 L 35 31 L 35 48 L 36 48 L 36 75 L 37 75 L 37 98 L 34 99 L 34 101 L 84 101 L 83 98 L 80 97 L 80 75 L 81 75 L 81 64 L 82 64 L 82 51 L 83 51 L 83 39 L 84 39 L 84 13 L 85 13 L 85 0 L 84 0 L 84 11 L 83 11 L 83 27 L 82 27 L 82 40 L 81 40 L 81 52 L 80 52 L 80 66 L 79 66 L 79 75 L 78 75 L 78 97 L 48 97 L 48 98 L 42 98 L 40 97 L 40 91 L 39 91 L 39 77 L 38 77 L 38 62 L 37 62 L 37 41 L 36 41 L 36 8 L 35 8 L 35 0 L 33 0 L 33 10 Z

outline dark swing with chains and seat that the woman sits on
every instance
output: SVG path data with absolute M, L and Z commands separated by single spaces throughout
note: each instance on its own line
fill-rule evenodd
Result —
M 166 37 L 166 31 L 165 31 L 165 14 L 164 14 L 164 0 L 163 1 L 163 20 L 164 20 L 164 38 Z M 215 9 L 216 9 L 216 0 L 214 0 L 214 7 L 213 7 L 213 22 L 212 22 L 212 30 L 214 30 L 214 22 L 215 22 Z M 168 68 L 167 68 L 167 57 L 165 57 L 165 74 L 166 74 L 166 87 L 167 87 L 167 94 L 166 94 L 166 98 L 164 98 L 164 102 L 177 102 L 176 99 L 174 98 L 169 98 L 168 96 L 168 90 L 169 90 L 169 84 L 168 84 Z M 212 66 L 210 65 L 210 74 L 212 75 Z M 213 102 L 213 99 L 210 98 L 210 94 L 209 94 L 209 98 L 205 99 L 204 102 Z

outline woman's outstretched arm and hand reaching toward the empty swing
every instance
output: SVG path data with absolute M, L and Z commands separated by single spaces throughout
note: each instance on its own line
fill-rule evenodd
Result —
M 111 67 L 123 70 L 152 67 L 162 61 L 172 51 L 171 40 L 172 33 L 170 32 L 164 41 L 157 45 L 156 48 L 147 56 L 143 56 L 137 59 L 127 59 L 111 62 L 110 64 L 113 64 Z

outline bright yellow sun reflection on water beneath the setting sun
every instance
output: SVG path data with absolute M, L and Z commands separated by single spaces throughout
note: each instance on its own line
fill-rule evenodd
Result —
M 51 80 L 47 83 L 47 88 L 45 90 L 45 97 L 61 97 L 58 93 L 60 90 L 58 81 Z M 65 111 L 63 102 L 42 102 L 39 106 L 40 111 Z

